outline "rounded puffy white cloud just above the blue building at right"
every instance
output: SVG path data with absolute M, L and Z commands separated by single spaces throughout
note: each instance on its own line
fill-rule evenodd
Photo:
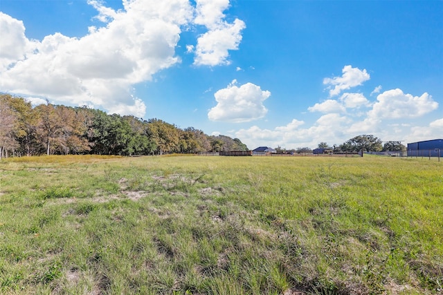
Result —
M 428 93 L 423 93 L 418 97 L 405 94 L 397 88 L 379 94 L 368 117 L 373 119 L 415 118 L 430 113 L 437 107 L 438 103 Z

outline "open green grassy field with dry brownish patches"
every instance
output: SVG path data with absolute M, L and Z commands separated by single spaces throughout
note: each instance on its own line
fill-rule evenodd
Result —
M 0 294 L 442 294 L 443 163 L 0 161 Z

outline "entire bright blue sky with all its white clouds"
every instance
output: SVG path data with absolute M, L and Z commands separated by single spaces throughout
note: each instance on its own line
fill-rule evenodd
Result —
M 0 0 L 0 92 L 257 146 L 443 138 L 443 1 Z

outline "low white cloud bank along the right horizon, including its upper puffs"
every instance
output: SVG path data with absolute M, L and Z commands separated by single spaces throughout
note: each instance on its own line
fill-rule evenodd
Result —
M 361 86 L 368 79 L 370 76 L 366 70 L 352 66 L 343 68 L 342 77 L 325 78 L 323 83 L 334 88 L 329 90 L 329 99 L 307 108 L 311 113 L 322 114 L 311 126 L 293 119 L 287 125 L 273 129 L 261 129 L 254 125 L 248 129 L 239 129 L 232 135 L 241 138 L 252 149 L 256 146 L 315 148 L 320 142 L 341 144 L 365 133 L 374 134 L 383 140 L 406 141 L 441 136 L 443 118 L 428 126 L 417 126 L 417 122 L 414 122 L 415 127 L 411 127 L 410 124 L 410 120 L 419 120 L 437 110 L 438 103 L 428 93 L 414 96 L 399 88 L 380 93 L 382 87 L 377 86 L 370 95 L 379 95 L 371 102 L 363 93 L 343 92 Z

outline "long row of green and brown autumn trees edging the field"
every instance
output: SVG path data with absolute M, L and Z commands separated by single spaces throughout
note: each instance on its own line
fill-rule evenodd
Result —
M 0 158 L 22 155 L 161 155 L 247 151 L 238 138 L 179 129 L 159 119 L 108 115 L 86 106 L 40 104 L 0 94 Z

